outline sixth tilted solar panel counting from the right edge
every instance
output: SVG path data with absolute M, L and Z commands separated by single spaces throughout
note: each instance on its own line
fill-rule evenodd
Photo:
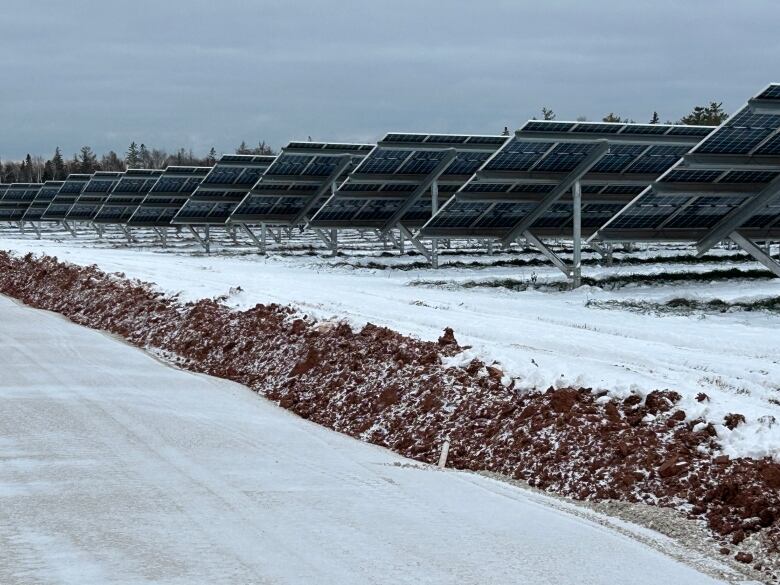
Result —
M 170 166 L 127 220 L 129 227 L 168 227 L 212 167 Z

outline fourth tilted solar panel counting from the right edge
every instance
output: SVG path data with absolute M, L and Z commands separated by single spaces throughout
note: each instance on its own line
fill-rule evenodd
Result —
M 231 223 L 297 225 L 331 195 L 370 144 L 291 142 L 230 216 Z

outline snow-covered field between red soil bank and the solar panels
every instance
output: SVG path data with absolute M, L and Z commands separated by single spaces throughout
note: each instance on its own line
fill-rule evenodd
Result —
M 197 247 L 174 241 L 164 250 L 149 245 L 126 246 L 112 236 L 97 240 L 89 232 L 72 238 L 63 232 L 42 240 L 5 228 L 0 249 L 46 253 L 76 264 L 97 264 L 109 272 L 156 283 L 183 299 L 226 295 L 226 303 L 247 308 L 256 303 L 293 304 L 320 318 L 348 319 L 386 325 L 402 333 L 435 339 L 453 327 L 458 341 L 472 348 L 465 362 L 480 357 L 496 361 L 517 378 L 520 387 L 578 385 L 617 395 L 670 389 L 683 394 L 681 407 L 692 418 L 717 425 L 725 453 L 732 456 L 777 456 L 780 453 L 780 316 L 767 312 L 717 315 L 638 314 L 588 306 L 588 301 L 673 298 L 726 301 L 780 296 L 780 280 L 731 280 L 626 286 L 614 291 L 582 287 L 576 291 L 523 292 L 505 288 L 464 288 L 476 280 L 559 280 L 546 267 L 490 266 L 488 257 L 476 268 L 356 268 L 369 261 L 397 265 L 417 258 L 382 257 L 363 248 L 346 257 L 324 252 L 275 253 L 263 257 L 231 248 L 210 256 Z M 376 249 L 376 246 L 374 246 Z M 665 249 L 645 255 L 673 255 Z M 372 256 L 373 254 L 373 256 Z M 492 260 L 491 260 L 492 259 Z M 443 262 L 473 261 L 473 256 L 442 257 Z M 726 268 L 756 269 L 757 263 L 649 264 L 614 268 L 586 267 L 585 274 L 704 272 Z M 419 286 L 421 281 L 445 281 Z M 414 286 L 417 284 L 417 286 Z M 240 287 L 240 290 L 238 289 Z M 709 401 L 699 402 L 704 392 Z M 729 431 L 724 415 L 741 413 L 747 424 Z M 773 418 L 774 417 L 774 418 Z

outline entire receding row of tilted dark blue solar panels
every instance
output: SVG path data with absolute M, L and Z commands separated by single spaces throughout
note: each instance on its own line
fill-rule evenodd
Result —
M 564 235 L 574 211 L 562 186 L 576 180 L 586 235 L 688 239 L 780 182 L 780 107 L 773 110 L 780 85 L 751 102 L 761 108 L 749 103 L 718 128 L 532 120 L 511 137 L 390 133 L 376 145 L 292 142 L 276 157 L 225 155 L 213 168 L 1 185 L 0 219 L 400 223 L 423 237 L 506 238 L 519 227 Z M 743 227 L 769 237 L 780 230 L 778 211 L 768 198 Z

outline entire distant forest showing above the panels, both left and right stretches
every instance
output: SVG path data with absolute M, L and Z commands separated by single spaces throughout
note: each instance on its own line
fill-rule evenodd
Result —
M 555 112 L 551 108 L 542 108 L 542 119 L 555 120 Z M 696 106 L 690 114 L 683 116 L 677 124 L 691 124 L 698 126 L 717 126 L 728 118 L 723 110 L 722 102 L 710 102 L 706 106 Z M 534 118 L 535 119 L 535 118 Z M 577 118 L 580 122 L 587 121 L 584 117 Z M 602 118 L 604 122 L 634 123 L 635 120 L 622 118 L 610 112 Z M 648 120 L 649 124 L 659 124 L 658 112 L 653 112 Z M 667 121 L 671 124 L 671 121 Z M 509 128 L 504 128 L 504 134 L 509 134 Z M 242 142 L 235 150 L 236 154 L 275 154 L 265 141 L 250 147 Z M 44 157 L 27 155 L 22 161 L 0 161 L 0 183 L 42 183 L 49 180 L 64 179 L 70 173 L 94 173 L 95 171 L 124 171 L 127 169 L 164 169 L 169 165 L 213 166 L 218 155 L 212 148 L 205 157 L 198 157 L 192 149 L 178 149 L 174 154 L 165 150 L 148 148 L 145 144 L 131 142 L 124 156 L 120 157 L 113 150 L 106 154 L 96 155 L 89 146 L 81 147 L 81 150 L 72 158 L 66 160 L 62 156 L 60 148 L 54 149 L 54 155 L 46 160 Z

